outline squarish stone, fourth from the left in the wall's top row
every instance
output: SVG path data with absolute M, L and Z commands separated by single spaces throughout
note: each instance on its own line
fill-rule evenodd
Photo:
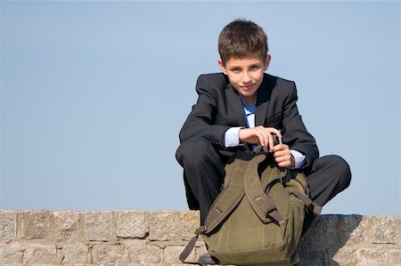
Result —
M 86 240 L 108 241 L 112 238 L 113 216 L 111 212 L 86 212 Z

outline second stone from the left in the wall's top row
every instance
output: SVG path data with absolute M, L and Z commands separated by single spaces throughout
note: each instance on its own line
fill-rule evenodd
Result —
M 26 211 L 20 213 L 21 238 L 45 238 L 50 232 L 50 212 Z

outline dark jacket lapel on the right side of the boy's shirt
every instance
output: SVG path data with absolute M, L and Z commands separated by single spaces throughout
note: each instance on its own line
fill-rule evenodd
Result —
M 255 126 L 264 125 L 267 113 L 267 106 L 272 94 L 272 85 L 268 82 L 268 75 L 265 74 L 263 82 L 258 88 L 257 103 L 255 109 Z

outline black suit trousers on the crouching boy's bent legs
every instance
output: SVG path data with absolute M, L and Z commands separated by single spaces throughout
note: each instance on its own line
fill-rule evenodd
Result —
M 184 141 L 176 150 L 176 159 L 184 168 L 187 189 L 199 203 L 203 224 L 210 206 L 221 191 L 228 157 L 208 140 L 198 137 Z M 310 197 L 319 206 L 324 206 L 332 197 L 347 189 L 351 181 L 348 163 L 335 155 L 317 158 L 313 165 L 304 169 L 304 173 L 309 182 Z M 307 216 L 306 228 L 313 219 L 313 215 Z

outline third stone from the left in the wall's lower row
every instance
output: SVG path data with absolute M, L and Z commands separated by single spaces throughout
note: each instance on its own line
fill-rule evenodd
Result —
M 88 262 L 88 247 L 83 243 L 64 244 L 59 252 L 62 264 L 81 264 Z

